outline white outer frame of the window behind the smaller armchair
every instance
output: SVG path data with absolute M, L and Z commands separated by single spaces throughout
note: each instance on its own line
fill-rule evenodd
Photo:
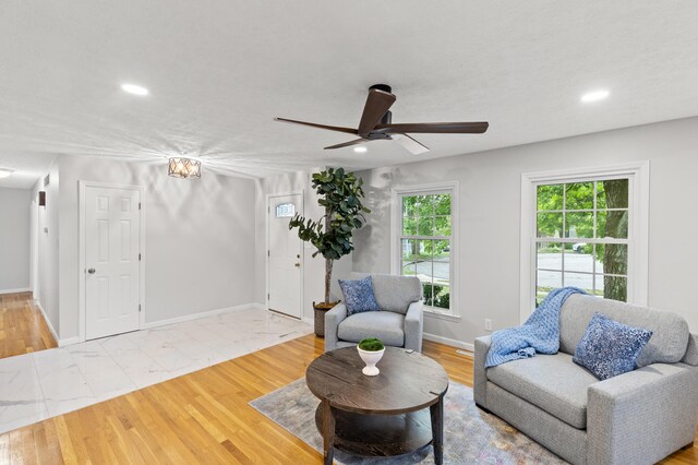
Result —
M 450 193 L 450 309 L 424 306 L 426 317 L 437 318 L 448 321 L 460 321 L 458 310 L 458 275 L 459 257 L 458 251 L 458 181 L 434 182 L 429 184 L 397 186 L 392 190 L 390 195 L 390 273 L 401 274 L 400 263 L 402 258 L 401 228 L 402 228 L 402 202 L 404 195 L 429 195 L 434 193 Z

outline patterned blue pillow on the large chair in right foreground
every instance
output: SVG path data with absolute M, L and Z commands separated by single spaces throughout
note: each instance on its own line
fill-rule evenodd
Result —
M 573 360 L 600 380 L 607 380 L 635 370 L 637 358 L 650 337 L 650 330 L 628 326 L 594 313 Z

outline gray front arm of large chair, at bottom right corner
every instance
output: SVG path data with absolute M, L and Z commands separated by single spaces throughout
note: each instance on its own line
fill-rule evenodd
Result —
M 589 386 L 587 463 L 652 464 L 696 436 L 698 369 L 654 363 Z

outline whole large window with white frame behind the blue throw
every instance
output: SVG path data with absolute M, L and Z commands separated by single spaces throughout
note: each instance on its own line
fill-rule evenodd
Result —
M 554 288 L 647 305 L 649 163 L 521 176 L 520 318 Z

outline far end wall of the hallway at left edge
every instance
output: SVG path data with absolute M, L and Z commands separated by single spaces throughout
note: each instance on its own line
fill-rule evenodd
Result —
M 0 188 L 0 293 L 29 288 L 32 191 Z

